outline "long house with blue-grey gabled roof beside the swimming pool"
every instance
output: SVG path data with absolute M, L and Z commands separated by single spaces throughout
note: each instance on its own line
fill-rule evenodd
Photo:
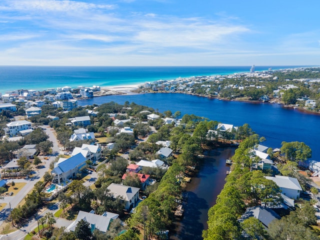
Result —
M 85 166 L 86 158 L 77 153 L 69 158 L 64 158 L 59 162 L 56 167 L 50 172 L 53 179 L 53 183 L 61 184 L 63 181 L 75 177 L 75 174 L 80 171 L 80 168 Z

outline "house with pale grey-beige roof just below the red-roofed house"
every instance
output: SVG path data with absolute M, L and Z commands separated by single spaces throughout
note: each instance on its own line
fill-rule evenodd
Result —
M 124 208 L 127 210 L 134 207 L 139 200 L 140 188 L 138 187 L 111 183 L 107 189 L 113 198 L 120 198 L 123 200 L 125 204 Z

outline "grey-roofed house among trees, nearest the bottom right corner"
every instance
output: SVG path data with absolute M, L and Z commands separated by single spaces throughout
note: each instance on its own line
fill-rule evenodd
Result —
M 271 221 L 273 221 L 274 219 L 281 218 L 271 208 L 253 206 L 246 208 L 244 214 L 240 217 L 239 221 L 243 221 L 252 216 L 258 219 L 266 229 L 268 228 L 268 225 Z

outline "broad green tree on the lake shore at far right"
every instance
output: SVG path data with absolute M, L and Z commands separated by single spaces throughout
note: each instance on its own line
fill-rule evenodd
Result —
M 312 155 L 311 148 L 304 142 L 282 141 L 281 145 L 281 153 L 284 153 L 286 159 L 290 161 L 305 161 Z

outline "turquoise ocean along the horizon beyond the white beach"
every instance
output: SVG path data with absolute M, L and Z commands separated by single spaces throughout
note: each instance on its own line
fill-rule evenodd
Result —
M 256 71 L 297 66 L 255 66 Z M 0 92 L 63 86 L 117 86 L 201 75 L 249 72 L 250 66 L 0 66 Z

